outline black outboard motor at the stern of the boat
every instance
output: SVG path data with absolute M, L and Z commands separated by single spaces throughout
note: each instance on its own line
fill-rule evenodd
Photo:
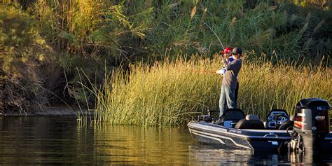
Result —
M 328 109 L 331 106 L 324 99 L 301 99 L 296 104 L 291 150 L 318 153 L 321 142 L 330 131 Z

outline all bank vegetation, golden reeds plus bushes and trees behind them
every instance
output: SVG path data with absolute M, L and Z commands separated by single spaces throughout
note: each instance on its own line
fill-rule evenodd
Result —
M 216 106 L 226 46 L 246 54 L 240 108 L 291 113 L 332 102 L 331 26 L 323 0 L 0 0 L 0 114 L 62 104 L 97 124 L 182 125 Z

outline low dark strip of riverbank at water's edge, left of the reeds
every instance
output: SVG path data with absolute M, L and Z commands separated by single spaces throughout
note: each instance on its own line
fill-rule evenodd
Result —
M 94 116 L 94 110 L 80 109 L 66 105 L 48 106 L 39 111 L 0 111 L 0 116 Z

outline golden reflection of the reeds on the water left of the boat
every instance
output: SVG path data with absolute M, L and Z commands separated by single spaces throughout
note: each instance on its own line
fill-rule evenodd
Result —
M 111 126 L 95 133 L 97 161 L 184 165 L 191 139 L 185 128 Z

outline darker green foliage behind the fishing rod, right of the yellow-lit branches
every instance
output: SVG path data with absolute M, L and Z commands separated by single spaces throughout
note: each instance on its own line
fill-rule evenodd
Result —
M 151 28 L 146 29 L 144 42 L 137 48 L 146 50 L 148 56 L 163 57 L 165 48 L 170 50 L 170 55 L 176 55 L 179 51 L 188 55 L 215 53 L 223 49 L 222 46 L 242 46 L 258 55 L 277 53 L 280 58 L 291 60 L 316 53 L 321 55 L 315 58 L 321 60 L 322 55 L 330 54 L 329 49 L 318 50 L 314 47 L 317 42 L 325 41 L 313 36 L 324 27 L 324 24 L 317 27 L 321 18 L 314 19 L 317 24 L 312 24 L 310 18 L 305 19 L 307 15 L 291 18 L 293 12 L 289 13 L 289 4 L 258 1 L 252 8 L 246 8 L 249 2 L 240 0 L 153 3 L 147 3 L 145 8 L 154 7 L 154 17 L 148 15 L 154 21 L 148 22 Z M 128 11 L 137 11 L 137 8 L 144 7 L 129 6 Z M 317 27 L 316 31 L 311 29 L 312 26 Z M 326 39 L 328 46 L 329 37 Z

